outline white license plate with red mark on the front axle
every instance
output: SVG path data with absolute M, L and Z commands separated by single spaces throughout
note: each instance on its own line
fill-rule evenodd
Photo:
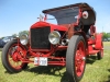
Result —
M 47 58 L 45 58 L 45 57 L 36 57 L 36 58 L 34 58 L 34 65 L 47 66 Z

